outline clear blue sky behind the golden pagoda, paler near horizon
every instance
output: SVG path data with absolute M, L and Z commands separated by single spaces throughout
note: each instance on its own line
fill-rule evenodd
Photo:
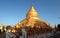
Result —
M 31 5 L 52 26 L 60 23 L 60 0 L 0 0 L 0 24 L 15 25 L 26 17 Z

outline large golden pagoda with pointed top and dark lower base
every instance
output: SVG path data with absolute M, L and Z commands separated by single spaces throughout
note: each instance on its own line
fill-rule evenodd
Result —
M 27 12 L 26 18 L 16 25 L 17 29 L 21 29 L 22 27 L 25 28 L 29 35 L 44 34 L 52 30 L 49 23 L 44 22 L 41 18 L 39 18 L 38 12 L 35 10 L 33 5 Z

